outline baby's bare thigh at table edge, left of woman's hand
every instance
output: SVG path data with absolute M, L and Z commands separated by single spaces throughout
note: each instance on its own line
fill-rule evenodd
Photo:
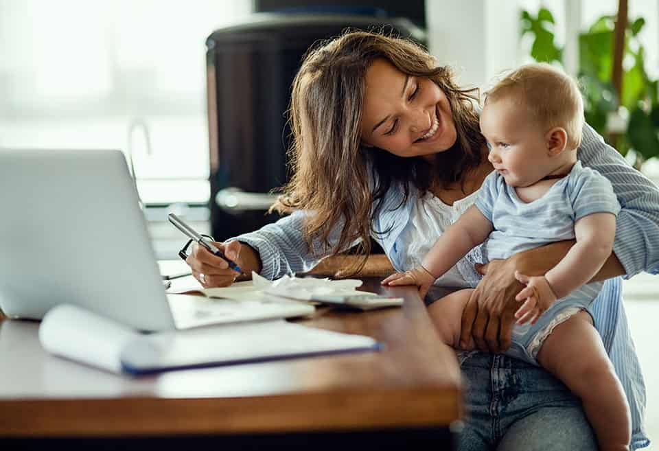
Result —
M 439 332 L 439 338 L 450 347 L 458 348 L 460 343 L 460 328 L 462 326 L 462 311 L 469 301 L 472 288 L 459 290 L 446 295 L 430 304 L 428 313 L 435 328 Z M 473 346 L 470 346 L 473 347 Z

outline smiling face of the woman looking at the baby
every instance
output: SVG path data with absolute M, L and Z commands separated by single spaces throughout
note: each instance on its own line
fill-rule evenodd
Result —
M 453 146 L 451 106 L 435 82 L 408 76 L 383 58 L 373 61 L 365 81 L 361 138 L 366 146 L 399 157 L 424 157 Z

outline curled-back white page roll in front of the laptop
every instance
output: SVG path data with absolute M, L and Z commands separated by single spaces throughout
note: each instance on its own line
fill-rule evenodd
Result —
M 120 373 L 122 349 L 139 333 L 76 305 L 51 308 L 39 325 L 46 351 L 71 360 Z

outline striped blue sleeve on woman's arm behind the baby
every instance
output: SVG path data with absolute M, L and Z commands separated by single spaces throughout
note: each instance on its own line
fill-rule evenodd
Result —
M 613 251 L 625 268 L 625 278 L 641 271 L 659 274 L 659 188 L 588 124 L 583 127 L 579 159 L 608 178 L 621 205 Z

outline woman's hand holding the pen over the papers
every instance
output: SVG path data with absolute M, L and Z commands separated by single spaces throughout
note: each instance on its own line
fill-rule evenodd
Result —
M 246 278 L 251 277 L 253 270 L 257 273 L 261 271 L 261 259 L 250 246 L 238 241 L 227 244 L 213 242 L 213 244 L 224 252 L 227 258 L 240 266 Z M 211 254 L 206 248 L 198 244 L 192 246 L 192 253 L 187 256 L 185 262 L 192 269 L 194 278 L 204 288 L 229 286 L 241 275 L 229 268 L 229 264 L 222 257 Z

